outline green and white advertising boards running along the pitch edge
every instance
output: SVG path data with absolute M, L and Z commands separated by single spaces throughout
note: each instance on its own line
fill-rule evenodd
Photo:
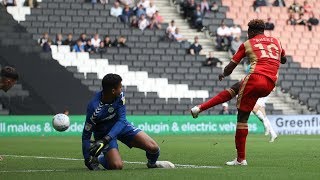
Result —
M 320 115 L 270 116 L 279 134 L 320 134 Z M 80 136 L 85 116 L 70 116 L 71 125 L 65 132 L 53 129 L 52 116 L 0 116 L 0 136 Z M 201 116 L 128 116 L 136 127 L 151 135 L 183 134 L 234 134 L 235 115 Z M 262 123 L 255 117 L 249 119 L 249 132 L 262 134 Z

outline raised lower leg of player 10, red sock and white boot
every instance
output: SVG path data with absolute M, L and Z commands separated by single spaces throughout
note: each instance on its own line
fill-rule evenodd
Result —
M 197 118 L 200 112 L 205 111 L 218 104 L 230 101 L 233 97 L 235 97 L 238 94 L 239 88 L 240 82 L 237 82 L 236 84 L 232 85 L 231 88 L 221 91 L 219 94 L 209 99 L 207 102 L 194 106 L 190 110 L 192 117 Z

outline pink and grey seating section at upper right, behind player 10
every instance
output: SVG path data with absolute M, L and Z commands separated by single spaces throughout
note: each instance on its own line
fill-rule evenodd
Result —
M 319 83 L 320 78 L 320 61 L 319 41 L 320 28 L 314 26 L 309 31 L 307 26 L 287 25 L 288 7 L 293 3 L 287 0 L 286 7 L 263 6 L 260 12 L 254 12 L 251 1 L 232 1 L 223 0 L 222 4 L 229 7 L 227 17 L 234 19 L 242 29 L 246 29 L 248 17 L 267 19 L 271 16 L 275 20 L 275 29 L 267 31 L 267 34 L 278 37 L 286 50 L 288 57 L 287 64 L 282 65 L 279 75 L 279 83 L 283 92 L 287 92 L 294 99 L 299 99 L 301 104 L 308 106 L 309 110 L 320 113 L 319 109 Z M 303 0 L 297 0 L 299 4 L 303 4 Z M 314 8 L 314 14 L 319 17 L 320 8 L 319 1 L 309 1 Z M 246 8 L 247 11 L 242 11 Z M 272 15 L 271 15 L 272 13 Z

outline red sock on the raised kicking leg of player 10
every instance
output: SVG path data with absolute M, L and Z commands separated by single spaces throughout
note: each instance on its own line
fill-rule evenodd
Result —
M 221 91 L 219 94 L 209 99 L 207 102 L 200 104 L 200 110 L 205 111 L 213 106 L 230 101 L 234 97 L 233 95 L 231 95 L 232 92 L 233 94 L 235 94 L 232 89 Z

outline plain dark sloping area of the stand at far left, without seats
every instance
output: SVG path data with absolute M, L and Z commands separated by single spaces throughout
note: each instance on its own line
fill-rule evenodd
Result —
M 4 107 L 10 114 L 53 114 L 64 108 L 82 114 L 92 92 L 52 58 L 44 58 L 47 54 L 3 6 L 0 16 L 0 64 L 22 74 L 12 91 L 1 94 Z

